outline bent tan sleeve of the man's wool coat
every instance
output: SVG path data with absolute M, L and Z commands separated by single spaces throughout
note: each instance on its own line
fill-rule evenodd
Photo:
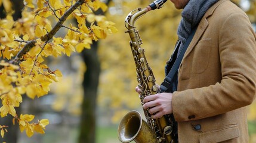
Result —
M 233 13 L 218 31 L 221 82 L 174 92 L 172 109 L 178 122 L 216 116 L 254 101 L 256 41 L 248 17 L 243 13 Z

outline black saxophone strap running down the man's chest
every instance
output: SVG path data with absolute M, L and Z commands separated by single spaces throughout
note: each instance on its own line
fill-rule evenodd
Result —
M 187 38 L 187 41 L 185 42 L 185 44 L 183 45 L 183 47 L 181 48 L 181 51 L 180 51 L 180 54 L 177 56 L 174 64 L 172 65 L 171 67 L 171 70 L 169 70 L 169 73 L 167 74 L 167 76 L 165 77 L 164 79 L 164 82 L 161 83 L 160 85 L 160 89 L 161 89 L 161 92 L 165 92 L 167 91 L 169 88 L 171 88 L 171 84 L 172 84 L 172 79 L 174 78 L 174 75 L 175 73 L 177 72 L 178 68 L 180 67 L 180 63 L 184 57 L 184 54 L 187 50 L 187 47 L 189 47 L 189 44 L 190 42 L 192 41 L 193 39 L 193 36 L 195 35 L 196 33 L 196 29 L 198 28 L 198 26 L 196 26 L 193 30 L 192 30 L 192 33 L 189 35 L 189 38 Z M 179 45 L 180 45 L 180 41 L 178 43 L 178 46 L 175 48 L 174 50 L 174 56 L 177 55 L 175 54 L 175 52 L 178 51 L 178 48 L 179 48 Z

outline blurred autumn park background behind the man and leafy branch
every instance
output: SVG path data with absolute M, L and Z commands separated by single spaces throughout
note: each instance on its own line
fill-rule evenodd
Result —
M 35 134 L 31 138 L 10 126 L 5 138 L 8 143 L 116 143 L 118 125 L 130 110 L 140 111 L 140 99 L 135 92 L 137 79 L 135 65 L 129 48 L 129 36 L 125 34 L 124 20 L 130 11 L 146 7 L 148 0 L 104 1 L 109 9 L 104 14 L 116 23 L 118 33 L 93 43 L 91 49 L 71 57 L 48 58 L 51 69 L 60 69 L 63 78 L 51 85 L 51 92 L 44 97 L 31 100 L 24 98 L 23 114 L 34 114 L 35 119 L 48 119 L 50 125 L 45 135 Z M 256 1 L 233 1 L 244 10 L 256 29 Z M 17 17 L 23 1 L 13 0 Z M 2 11 L 2 7 L 0 8 Z M 152 11 L 140 18 L 135 26 L 143 40 L 147 61 L 160 84 L 164 78 L 165 62 L 172 54 L 177 40 L 180 10 L 167 1 L 161 10 Z M 1 12 L 1 17 L 4 17 Z M 67 21 L 75 23 L 75 21 Z M 61 31 L 58 36 L 62 36 Z M 56 36 L 57 37 L 57 36 Z M 256 64 L 256 63 L 255 63 Z M 11 118 L 11 117 L 10 117 Z M 0 119 L 8 122 L 8 117 Z M 248 107 L 250 142 L 256 142 L 256 102 Z

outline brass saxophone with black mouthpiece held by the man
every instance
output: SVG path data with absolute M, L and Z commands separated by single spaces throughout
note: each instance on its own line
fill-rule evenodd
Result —
M 167 0 L 156 0 L 144 9 L 138 8 L 131 11 L 125 19 L 125 27 L 131 41 L 132 55 L 134 57 L 138 87 L 141 89 L 140 100 L 143 104 L 144 97 L 159 93 L 156 86 L 156 80 L 152 69 L 147 63 L 144 55 L 144 49 L 141 48 L 142 41 L 138 30 L 135 29 L 134 23 L 138 18 L 142 17 L 148 11 L 162 8 L 164 2 Z M 141 114 L 138 111 L 130 111 L 127 113 L 119 123 L 118 138 L 121 142 L 135 141 L 138 143 L 175 143 L 177 139 L 177 125 L 172 114 L 167 114 L 159 119 L 152 119 L 147 110 L 143 110 L 146 121 L 142 120 Z

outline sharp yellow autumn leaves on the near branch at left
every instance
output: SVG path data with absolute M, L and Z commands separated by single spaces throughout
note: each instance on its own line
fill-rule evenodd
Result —
M 47 95 L 51 83 L 59 82 L 62 77 L 60 70 L 51 70 L 43 64 L 44 59 L 82 52 L 84 48 L 91 48 L 92 41 L 106 38 L 117 30 L 106 17 L 94 15 L 99 8 L 107 10 L 106 4 L 100 0 L 23 2 L 22 17 L 14 21 L 10 0 L 0 0 L 0 6 L 4 5 L 7 14 L 6 18 L 0 19 L 0 114 L 1 117 L 7 114 L 13 116 L 13 122 L 19 123 L 21 132 L 26 130 L 30 137 L 34 132 L 44 133 L 48 120 L 29 123 L 34 116 L 23 114 L 18 118 L 15 107 L 20 106 L 23 100 L 21 95 L 26 94 L 32 99 Z M 88 15 L 100 24 L 86 25 Z M 77 19 L 78 27 L 72 24 L 65 26 L 65 20 L 72 16 Z M 66 35 L 63 38 L 54 37 L 61 27 L 67 29 Z M 82 95 L 82 92 L 76 94 Z M 0 130 L 1 136 L 4 136 L 6 129 L 0 126 Z

